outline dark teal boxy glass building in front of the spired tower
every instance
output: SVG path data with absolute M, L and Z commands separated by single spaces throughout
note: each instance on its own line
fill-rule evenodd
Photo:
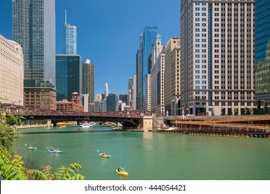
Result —
M 57 101 L 71 101 L 72 93 L 82 94 L 82 58 L 80 55 L 56 55 Z

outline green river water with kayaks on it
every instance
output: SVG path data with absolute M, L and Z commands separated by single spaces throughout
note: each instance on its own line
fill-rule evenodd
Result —
M 78 163 L 87 180 L 269 180 L 270 139 L 115 132 L 112 127 L 24 129 L 14 150 L 27 168 Z M 63 132 L 63 133 L 50 133 Z M 69 132 L 69 133 L 66 133 Z M 28 150 L 26 145 L 35 150 Z M 47 147 L 62 153 L 48 152 Z M 101 158 L 105 151 L 111 158 Z M 128 177 L 116 173 L 125 167 Z

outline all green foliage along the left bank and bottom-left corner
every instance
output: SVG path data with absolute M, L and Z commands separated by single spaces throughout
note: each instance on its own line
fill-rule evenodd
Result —
M 14 125 L 22 125 L 27 117 L 22 110 L 17 112 L 3 112 L 0 109 L 0 175 L 5 180 L 84 180 L 83 175 L 77 174 L 82 170 L 80 164 L 69 164 L 57 168 L 56 172 L 50 166 L 42 166 L 42 171 L 25 169 L 18 155 L 12 156 L 10 149 L 19 137 Z

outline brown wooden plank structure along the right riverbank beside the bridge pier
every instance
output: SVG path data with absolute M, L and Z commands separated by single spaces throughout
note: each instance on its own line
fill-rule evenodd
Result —
M 174 130 L 157 132 L 208 134 L 213 136 L 262 137 L 270 139 L 270 116 L 194 116 L 165 119 Z

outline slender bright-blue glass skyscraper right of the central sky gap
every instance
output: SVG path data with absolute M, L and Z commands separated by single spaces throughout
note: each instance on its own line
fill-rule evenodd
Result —
M 156 42 L 157 26 L 145 26 L 143 35 L 140 36 L 139 49 L 136 54 L 137 74 L 137 109 L 145 109 L 145 76 L 150 74 L 150 55 L 152 46 Z

